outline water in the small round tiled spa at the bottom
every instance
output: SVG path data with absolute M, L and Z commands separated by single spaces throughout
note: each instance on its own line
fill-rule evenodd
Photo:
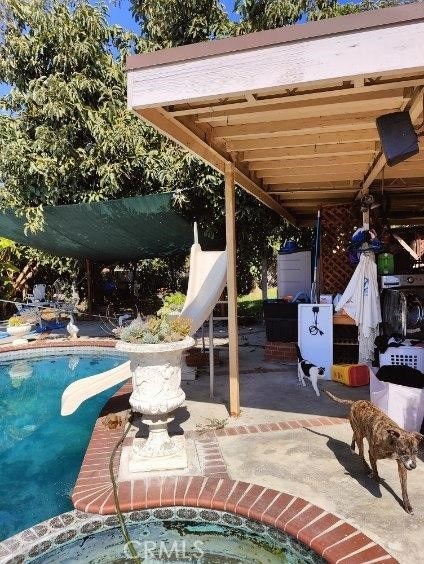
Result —
M 165 519 L 134 513 L 147 522 L 131 523 L 128 531 L 143 564 L 323 564 L 324 560 L 287 534 L 262 523 L 210 510 L 192 508 L 159 509 Z M 181 519 L 176 513 L 193 520 Z M 169 514 L 169 515 L 167 515 Z M 114 518 L 116 519 L 116 518 Z M 195 520 L 197 519 L 197 520 Z M 99 527 L 94 522 L 93 528 Z M 90 527 L 88 527 L 90 529 Z M 54 546 L 54 545 L 52 545 Z M 74 539 L 47 550 L 33 564 L 124 564 L 134 562 L 115 526 Z

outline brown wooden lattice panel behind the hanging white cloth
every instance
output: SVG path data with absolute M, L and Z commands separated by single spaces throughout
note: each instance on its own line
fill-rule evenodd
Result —
M 343 293 L 355 269 L 347 257 L 358 220 L 351 204 L 321 209 L 320 293 Z

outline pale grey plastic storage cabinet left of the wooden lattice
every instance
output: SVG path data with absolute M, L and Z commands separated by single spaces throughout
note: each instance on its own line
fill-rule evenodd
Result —
M 311 295 L 311 252 L 279 254 L 277 257 L 278 297 Z

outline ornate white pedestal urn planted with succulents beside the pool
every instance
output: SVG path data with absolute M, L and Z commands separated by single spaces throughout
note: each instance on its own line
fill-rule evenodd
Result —
M 181 359 L 194 345 L 191 321 L 179 317 L 138 318 L 120 332 L 116 348 L 128 354 L 133 392 L 130 405 L 143 414 L 147 439 L 134 439 L 129 471 L 172 470 L 187 467 L 183 436 L 169 437 L 170 415 L 185 400 L 181 389 Z

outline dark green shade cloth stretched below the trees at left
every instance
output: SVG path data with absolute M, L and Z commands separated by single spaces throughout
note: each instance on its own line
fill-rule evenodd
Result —
M 191 225 L 172 209 L 172 193 L 107 202 L 49 206 L 44 230 L 24 233 L 25 220 L 0 213 L 0 236 L 62 257 L 126 262 L 187 252 Z

